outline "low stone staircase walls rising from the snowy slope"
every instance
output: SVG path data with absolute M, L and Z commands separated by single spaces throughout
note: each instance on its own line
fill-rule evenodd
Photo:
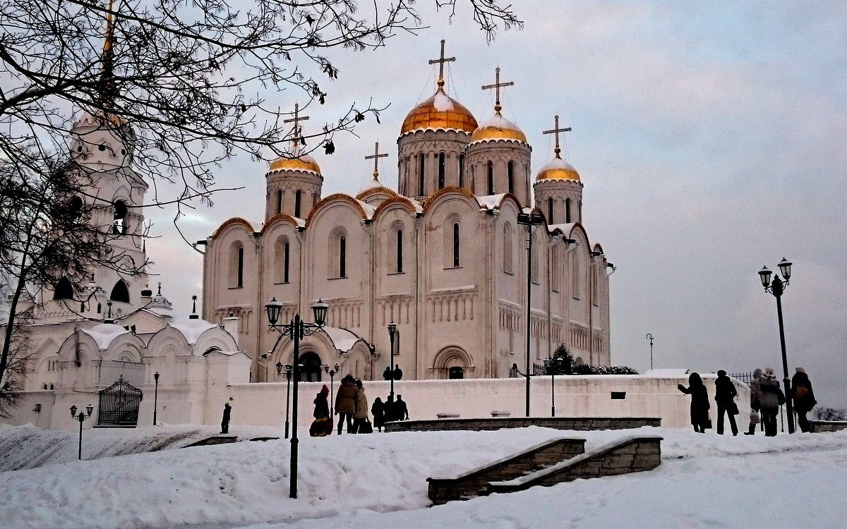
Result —
M 429 477 L 429 499 L 440 505 L 536 485 L 649 471 L 662 462 L 661 443 L 659 436 L 629 436 L 585 453 L 585 439 L 555 438 L 457 477 Z

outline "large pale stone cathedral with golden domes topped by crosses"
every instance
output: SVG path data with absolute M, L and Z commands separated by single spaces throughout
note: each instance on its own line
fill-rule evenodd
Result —
M 550 131 L 556 151 L 533 173 L 526 135 L 501 115 L 499 69 L 484 124 L 444 85 L 442 70 L 435 94 L 401 124 L 397 190 L 374 163 L 357 196 L 324 196 L 317 161 L 294 141 L 295 157 L 265 175 L 264 218 L 230 218 L 200 241 L 202 315 L 238 318 L 252 382 L 276 381 L 274 366 L 293 359 L 291 340 L 268 328 L 272 299 L 282 322 L 329 304 L 325 332 L 301 343 L 303 380 L 335 364 L 381 379 L 390 322 L 404 379 L 508 377 L 513 364 L 532 369 L 528 342 L 532 363 L 566 344 L 578 361 L 609 365 L 614 267 L 582 223 L 584 185 L 559 155 L 562 129 Z M 368 158 L 383 156 L 377 144 Z

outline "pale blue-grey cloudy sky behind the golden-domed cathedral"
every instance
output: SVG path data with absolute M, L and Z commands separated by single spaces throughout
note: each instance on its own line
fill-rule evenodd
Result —
M 235 1 L 235 0 L 233 0 Z M 462 0 L 459 0 L 462 2 Z M 584 182 L 584 224 L 612 275 L 612 363 L 702 372 L 772 366 L 782 376 L 776 300 L 757 272 L 794 262 L 783 296 L 789 372 L 804 366 L 822 405 L 847 406 L 847 3 L 590 2 L 517 0 L 523 30 L 486 45 L 467 12 L 451 21 L 419 0 L 418 36 L 375 52 L 337 50 L 329 101 L 310 107 L 317 131 L 351 103 L 390 107 L 382 124 L 336 136 L 317 153 L 324 196 L 368 184 L 374 141 L 390 156 L 381 179 L 396 189 L 402 119 L 435 91 L 446 39 L 448 91 L 478 121 L 506 89 L 503 114 L 533 146 L 533 172 L 552 155 L 558 114 L 573 127 L 563 154 Z M 248 3 L 249 4 L 249 3 Z M 280 107 L 305 98 L 262 94 Z M 180 225 L 205 239 L 225 219 L 261 225 L 265 163 L 238 157 L 221 185 L 244 189 L 215 199 Z M 147 212 L 161 239 L 147 245 L 163 293 L 179 311 L 202 294 L 202 257 L 179 240 L 170 212 Z M 153 278 L 152 283 L 158 281 Z

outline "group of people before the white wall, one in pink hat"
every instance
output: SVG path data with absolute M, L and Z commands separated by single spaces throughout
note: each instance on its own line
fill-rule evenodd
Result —
M 324 437 L 332 433 L 332 420 L 329 416 L 329 388 L 321 388 L 314 400 L 315 420 L 312 427 L 309 428 L 309 433 L 312 437 Z M 338 416 L 338 435 L 341 434 L 345 424 L 347 433 L 372 433 L 374 428 L 382 432 L 382 428 L 386 422 L 404 421 L 409 418 L 409 410 L 401 398 L 397 395 L 389 395 L 385 403 L 377 397 L 374 404 L 370 407 L 370 412 L 374 416 L 374 422 L 371 423 L 368 417 L 368 395 L 362 381 L 347 374 L 341 378 L 341 383 L 338 388 L 338 393 L 335 395 L 335 415 Z

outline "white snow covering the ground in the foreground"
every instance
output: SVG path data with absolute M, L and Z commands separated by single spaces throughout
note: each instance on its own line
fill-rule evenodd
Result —
M 639 432 L 639 431 L 636 431 Z M 179 448 L 213 427 L 86 430 L 0 426 L 0 526 L 737 527 L 847 525 L 847 432 L 765 438 L 659 433 L 662 466 L 429 507 L 429 476 L 482 465 L 546 439 L 594 449 L 633 431 L 374 433 L 300 439 L 298 499 L 287 440 Z M 240 438 L 280 435 L 233 428 Z

